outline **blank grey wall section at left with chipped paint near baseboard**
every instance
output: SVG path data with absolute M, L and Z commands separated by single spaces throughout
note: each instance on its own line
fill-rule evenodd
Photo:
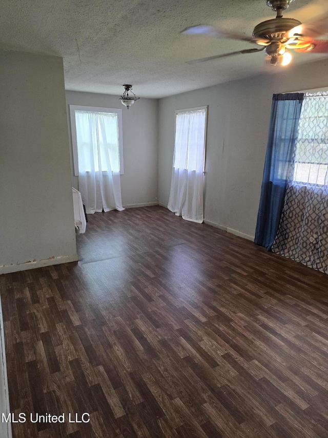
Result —
M 0 77 L 0 273 L 76 260 L 63 60 L 2 51 Z

